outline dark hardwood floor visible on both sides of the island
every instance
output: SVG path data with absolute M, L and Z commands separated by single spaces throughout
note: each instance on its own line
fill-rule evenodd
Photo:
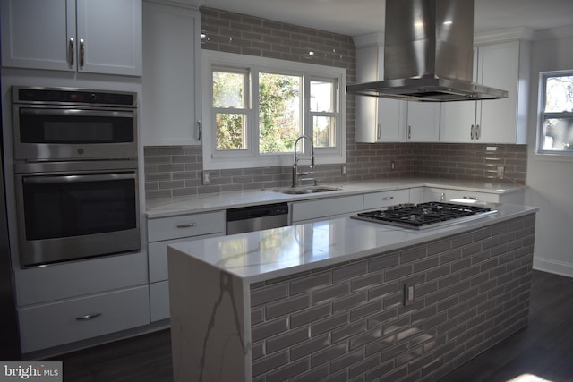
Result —
M 56 357 L 64 381 L 161 382 L 173 379 L 169 331 Z M 454 370 L 442 382 L 573 381 L 573 278 L 534 271 L 529 325 Z M 390 381 L 391 382 L 391 381 Z

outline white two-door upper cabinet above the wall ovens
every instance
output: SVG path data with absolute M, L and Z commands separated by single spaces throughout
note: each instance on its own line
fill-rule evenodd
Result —
M 141 0 L 3 0 L 3 66 L 141 76 Z

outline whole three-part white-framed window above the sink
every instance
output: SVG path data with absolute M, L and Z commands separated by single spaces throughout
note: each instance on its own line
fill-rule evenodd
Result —
M 346 161 L 346 70 L 205 50 L 206 169 L 292 166 L 295 140 L 312 137 L 317 164 Z M 303 142 L 297 148 L 310 153 Z

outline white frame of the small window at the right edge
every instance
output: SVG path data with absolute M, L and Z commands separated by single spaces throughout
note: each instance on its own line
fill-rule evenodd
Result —
M 571 118 L 573 119 L 573 111 L 572 112 L 545 112 L 545 103 L 546 103 L 546 85 L 547 79 L 553 77 L 562 77 L 562 76 L 573 76 L 573 70 L 564 70 L 564 71 L 550 71 L 550 72 L 540 72 L 539 73 L 539 96 L 538 96 L 538 121 L 537 121 L 537 128 L 536 128 L 536 142 L 535 142 L 535 153 L 537 155 L 545 156 L 545 157 L 561 157 L 561 158 L 568 158 L 573 159 L 573 150 L 548 150 L 543 149 L 543 140 L 544 140 L 544 133 L 543 133 L 543 125 L 546 119 L 552 118 Z

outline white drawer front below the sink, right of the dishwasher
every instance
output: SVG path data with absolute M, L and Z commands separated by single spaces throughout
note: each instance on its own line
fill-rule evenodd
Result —
M 315 199 L 293 203 L 293 222 L 362 211 L 363 196 Z

